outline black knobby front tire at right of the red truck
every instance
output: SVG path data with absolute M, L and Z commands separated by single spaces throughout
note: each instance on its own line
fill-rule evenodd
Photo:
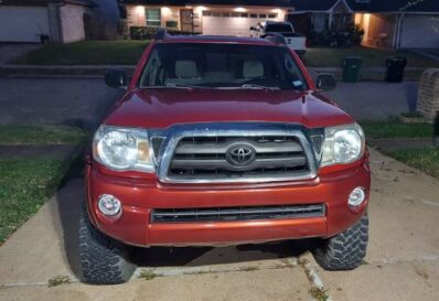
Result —
M 363 217 L 351 228 L 326 239 L 313 254 L 325 270 L 353 270 L 363 262 L 368 240 L 368 217 Z

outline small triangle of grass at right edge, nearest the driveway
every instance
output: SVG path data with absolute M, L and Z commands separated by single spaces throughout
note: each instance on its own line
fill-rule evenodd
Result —
M 439 148 L 397 150 L 386 154 L 439 179 Z

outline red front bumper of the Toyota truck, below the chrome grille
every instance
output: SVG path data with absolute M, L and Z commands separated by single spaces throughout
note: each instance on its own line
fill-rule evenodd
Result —
M 215 246 L 306 237 L 331 237 L 363 215 L 367 201 L 355 211 L 347 196 L 356 186 L 370 195 L 367 159 L 355 166 L 319 175 L 314 180 L 272 184 L 162 184 L 154 176 L 121 178 L 95 162 L 86 168 L 87 205 L 92 223 L 106 235 L 136 246 Z M 99 213 L 97 198 L 113 194 L 122 214 L 110 219 Z M 323 217 L 197 223 L 151 223 L 153 208 L 195 208 L 325 204 Z

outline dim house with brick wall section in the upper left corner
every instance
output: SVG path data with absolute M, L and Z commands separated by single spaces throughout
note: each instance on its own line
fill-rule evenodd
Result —
M 0 42 L 115 39 L 118 22 L 117 0 L 0 0 Z

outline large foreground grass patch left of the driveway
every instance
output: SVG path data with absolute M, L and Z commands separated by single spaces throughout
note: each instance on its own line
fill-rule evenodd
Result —
M 0 245 L 57 190 L 66 164 L 51 159 L 0 159 Z

